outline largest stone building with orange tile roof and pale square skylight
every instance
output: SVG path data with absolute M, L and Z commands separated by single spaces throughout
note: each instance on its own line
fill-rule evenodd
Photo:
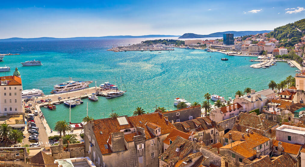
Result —
M 173 129 L 161 111 L 96 119 L 84 126 L 85 156 L 98 167 L 155 167 L 163 153 L 162 141 Z

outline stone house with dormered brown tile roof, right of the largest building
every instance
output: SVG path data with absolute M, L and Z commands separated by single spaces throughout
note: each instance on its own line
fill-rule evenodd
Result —
M 212 121 L 209 116 L 192 119 L 185 122 L 174 123 L 174 126 L 185 133 L 195 133 L 194 137 L 205 145 L 221 142 L 224 128 Z

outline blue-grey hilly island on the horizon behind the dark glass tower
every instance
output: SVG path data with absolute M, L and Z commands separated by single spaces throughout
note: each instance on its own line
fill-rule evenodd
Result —
M 193 33 L 185 33 L 178 39 L 185 39 L 185 38 L 209 38 L 209 37 L 222 37 L 223 34 L 234 34 L 235 37 L 241 37 L 245 35 L 251 35 L 251 34 L 262 34 L 262 33 L 269 33 L 272 30 L 262 30 L 262 31 L 224 31 L 224 32 L 217 32 L 212 33 L 209 35 L 199 35 L 199 34 L 193 34 Z

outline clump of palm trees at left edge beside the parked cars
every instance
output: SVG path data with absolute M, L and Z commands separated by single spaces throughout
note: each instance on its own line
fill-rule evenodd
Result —
M 14 144 L 16 144 L 17 141 L 21 141 L 23 139 L 22 131 L 13 129 L 6 123 L 3 123 L 0 126 L 0 135 L 2 136 L 2 140 L 7 141 L 9 139 L 14 141 Z

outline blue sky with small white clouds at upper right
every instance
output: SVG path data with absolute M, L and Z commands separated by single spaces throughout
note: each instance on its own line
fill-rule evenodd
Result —
M 305 1 L 2 1 L 0 38 L 273 30 L 305 18 Z

